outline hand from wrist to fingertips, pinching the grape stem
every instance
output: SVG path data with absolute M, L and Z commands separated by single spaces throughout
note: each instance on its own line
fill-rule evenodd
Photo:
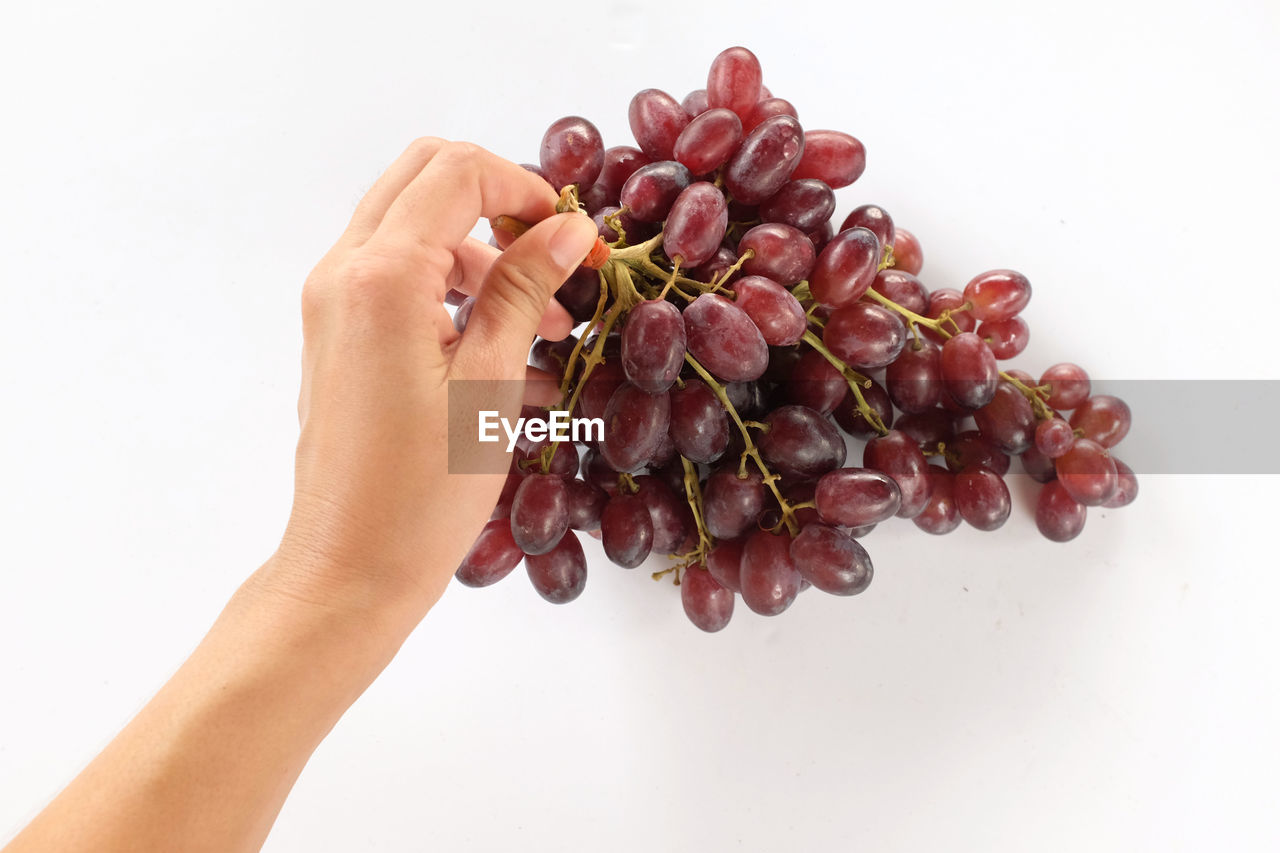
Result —
M 264 575 L 274 589 L 407 603 L 412 624 L 443 594 L 504 479 L 448 473 L 447 383 L 516 380 L 485 406 L 513 419 L 535 332 L 570 332 L 552 295 L 596 231 L 554 214 L 556 199 L 518 165 L 431 138 L 369 191 L 302 292 L 302 432 L 293 514 Z M 502 252 L 467 237 L 499 214 L 536 224 Z M 451 287 L 477 297 L 461 336 L 444 310 Z

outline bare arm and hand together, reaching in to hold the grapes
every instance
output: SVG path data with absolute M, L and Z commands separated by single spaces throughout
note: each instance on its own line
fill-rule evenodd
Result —
M 303 287 L 280 548 L 5 853 L 262 845 L 316 745 L 443 594 L 497 501 L 504 475 L 448 473 L 447 382 L 524 379 L 535 330 L 568 333 L 552 293 L 596 232 L 554 202 L 525 169 L 431 138 L 369 191 Z M 538 224 L 500 254 L 467 237 L 498 214 Z M 477 298 L 462 336 L 451 287 Z M 521 384 L 493 407 L 513 418 Z M 502 456 L 474 453 L 489 447 Z

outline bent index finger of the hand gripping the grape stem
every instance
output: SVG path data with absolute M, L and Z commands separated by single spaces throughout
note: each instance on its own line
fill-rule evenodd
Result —
M 476 222 L 500 214 L 535 223 L 558 196 L 524 167 L 468 142 L 448 142 L 397 196 L 374 240 L 453 251 Z

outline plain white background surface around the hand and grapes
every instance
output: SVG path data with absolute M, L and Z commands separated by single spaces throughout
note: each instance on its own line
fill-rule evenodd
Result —
M 635 91 L 681 97 L 746 44 L 808 127 L 867 143 L 838 216 L 883 204 L 932 287 L 1030 277 L 1018 364 L 1277 378 L 1277 14 L 6 4 L 0 838 L 273 551 L 301 282 L 415 136 L 530 160 L 580 113 L 630 142 Z M 1185 412 L 1157 428 L 1230 421 Z M 453 588 L 268 849 L 1274 849 L 1276 485 L 1146 476 L 1068 546 L 1023 492 L 996 534 L 886 525 L 864 596 L 717 635 L 594 543 L 566 607 L 520 571 Z

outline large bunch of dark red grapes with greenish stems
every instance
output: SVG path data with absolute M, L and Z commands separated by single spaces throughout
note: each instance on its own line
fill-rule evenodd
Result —
M 890 519 L 1000 528 L 1012 456 L 1043 483 L 1036 524 L 1055 542 L 1087 507 L 1134 500 L 1111 453 L 1130 424 L 1121 400 L 1091 394 L 1074 364 L 1038 380 L 1001 370 L 1029 339 L 1028 279 L 997 269 L 931 291 L 919 241 L 883 207 L 833 228 L 835 190 L 865 150 L 803 129 L 749 50 L 719 54 L 684 101 L 639 92 L 628 118 L 637 147 L 605 149 L 567 117 L 526 167 L 599 227 L 557 293 L 581 336 L 536 341 L 530 362 L 559 379 L 559 409 L 603 419 L 603 439 L 522 442 L 458 580 L 484 587 L 524 561 L 544 598 L 572 601 L 584 532 L 625 569 L 671 555 L 655 576 L 675 573 L 689 619 L 716 631 L 737 596 L 774 616 L 810 585 L 860 593 L 860 540 Z M 860 466 L 846 437 L 865 442 Z

